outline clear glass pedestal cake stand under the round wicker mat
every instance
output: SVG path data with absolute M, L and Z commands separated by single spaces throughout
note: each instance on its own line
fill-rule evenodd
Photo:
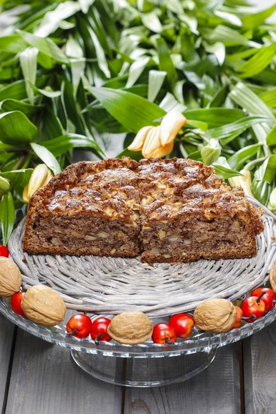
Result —
M 195 330 L 190 338 L 175 344 L 158 345 L 149 340 L 134 346 L 114 341 L 97 345 L 92 339 L 68 337 L 66 323 L 75 311 L 67 311 L 65 321 L 55 328 L 38 326 L 15 314 L 10 309 L 9 299 L 0 299 L 0 312 L 24 331 L 70 348 L 74 361 L 93 377 L 111 384 L 137 387 L 164 386 L 188 380 L 213 362 L 217 348 L 260 331 L 276 318 L 275 308 L 255 322 L 228 333 L 214 335 Z M 92 319 L 98 316 L 92 316 Z M 168 319 L 152 318 L 154 324 L 161 321 Z

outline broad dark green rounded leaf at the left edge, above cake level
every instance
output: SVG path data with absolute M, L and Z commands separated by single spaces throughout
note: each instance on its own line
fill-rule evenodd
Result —
M 5 144 L 24 146 L 37 137 L 37 127 L 19 110 L 0 114 L 1 140 Z

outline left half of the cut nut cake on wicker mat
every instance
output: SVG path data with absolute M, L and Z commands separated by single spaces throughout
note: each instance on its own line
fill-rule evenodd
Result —
M 23 249 L 53 255 L 138 255 L 138 165 L 124 157 L 66 168 L 31 197 Z

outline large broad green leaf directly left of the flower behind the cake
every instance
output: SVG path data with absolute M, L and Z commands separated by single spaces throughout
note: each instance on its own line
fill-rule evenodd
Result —
M 155 105 L 125 90 L 110 88 L 88 88 L 108 110 L 128 130 L 138 132 L 143 126 L 152 125 L 156 119 L 164 117 L 166 112 Z

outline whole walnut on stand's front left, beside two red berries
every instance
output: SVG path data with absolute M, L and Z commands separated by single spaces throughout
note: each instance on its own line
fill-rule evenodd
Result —
M 64 320 L 66 304 L 52 288 L 36 285 L 23 296 L 21 308 L 26 317 L 42 326 L 55 326 Z

